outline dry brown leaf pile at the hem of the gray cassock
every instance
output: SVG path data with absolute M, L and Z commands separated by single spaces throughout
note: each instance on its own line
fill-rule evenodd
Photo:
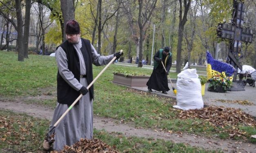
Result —
M 51 153 L 118 153 L 118 151 L 111 148 L 111 146 L 98 139 L 88 140 L 81 138 L 72 146 L 65 146 L 60 151 L 51 151 Z

